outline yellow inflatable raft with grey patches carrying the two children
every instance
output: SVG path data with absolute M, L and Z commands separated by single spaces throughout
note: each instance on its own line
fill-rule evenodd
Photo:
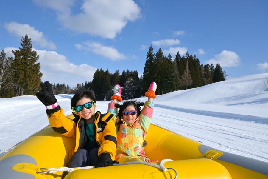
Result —
M 68 117 L 73 118 L 72 115 Z M 146 141 L 144 149 L 147 157 L 158 161 L 172 159 L 173 161 L 164 163 L 164 167 L 172 169 L 163 172 L 153 166 L 130 164 L 75 170 L 66 179 L 173 179 L 175 171 L 180 179 L 268 178 L 266 162 L 213 149 L 153 124 L 149 128 Z M 68 166 L 74 146 L 74 138 L 57 134 L 47 126 L 0 157 L 0 178 L 60 179 L 62 172 L 36 172 L 42 172 L 40 168 Z

